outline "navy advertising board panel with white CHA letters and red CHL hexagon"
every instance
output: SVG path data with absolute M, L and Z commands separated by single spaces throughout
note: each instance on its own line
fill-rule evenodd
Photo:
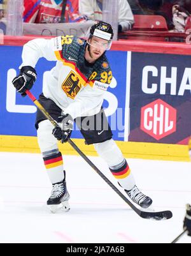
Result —
M 187 144 L 190 56 L 132 52 L 129 141 Z

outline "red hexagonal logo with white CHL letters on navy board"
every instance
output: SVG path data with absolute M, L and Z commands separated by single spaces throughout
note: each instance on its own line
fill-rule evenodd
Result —
M 142 107 L 141 130 L 156 140 L 176 132 L 176 109 L 160 99 Z

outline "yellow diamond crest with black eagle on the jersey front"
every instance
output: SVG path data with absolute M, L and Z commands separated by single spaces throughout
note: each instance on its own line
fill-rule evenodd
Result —
M 81 89 L 81 82 L 73 71 L 69 73 L 62 84 L 62 89 L 71 99 L 74 99 Z

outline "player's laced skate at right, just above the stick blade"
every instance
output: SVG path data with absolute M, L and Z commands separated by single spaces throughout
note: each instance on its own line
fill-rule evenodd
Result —
M 132 190 L 125 190 L 125 192 L 127 193 L 127 195 L 129 195 L 133 202 L 135 202 L 142 208 L 148 208 L 153 202 L 152 199 L 150 199 L 150 197 L 148 197 L 147 195 L 144 195 L 136 185 L 134 185 Z

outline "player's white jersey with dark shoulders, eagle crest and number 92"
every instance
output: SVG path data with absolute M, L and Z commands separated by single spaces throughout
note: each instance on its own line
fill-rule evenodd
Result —
M 86 40 L 75 36 L 34 39 L 24 45 L 22 66 L 35 68 L 40 57 L 57 61 L 48 73 L 43 94 L 73 119 L 97 114 L 103 104 L 112 72 L 105 55 L 94 64 L 85 61 Z

